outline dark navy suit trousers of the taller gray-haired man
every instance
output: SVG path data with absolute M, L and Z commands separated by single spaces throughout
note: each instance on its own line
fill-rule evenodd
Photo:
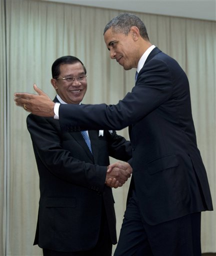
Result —
M 200 217 L 197 212 L 149 225 L 140 214 L 133 190 L 114 256 L 201 256 Z

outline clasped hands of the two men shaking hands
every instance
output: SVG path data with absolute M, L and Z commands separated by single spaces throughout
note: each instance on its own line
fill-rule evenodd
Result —
M 115 162 L 107 166 L 105 184 L 117 188 L 122 186 L 132 173 L 132 168 L 127 162 Z

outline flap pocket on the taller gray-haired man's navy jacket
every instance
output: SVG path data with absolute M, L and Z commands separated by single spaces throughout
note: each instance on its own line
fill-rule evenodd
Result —
M 175 154 L 164 155 L 147 163 L 147 170 L 150 175 L 168 168 L 178 166 L 178 159 Z

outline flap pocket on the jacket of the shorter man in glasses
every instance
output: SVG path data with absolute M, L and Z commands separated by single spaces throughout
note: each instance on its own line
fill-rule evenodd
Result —
M 75 208 L 75 197 L 48 197 L 46 199 L 46 207 L 63 207 L 63 208 Z

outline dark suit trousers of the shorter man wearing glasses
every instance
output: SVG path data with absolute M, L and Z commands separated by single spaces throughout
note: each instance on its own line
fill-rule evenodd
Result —
M 43 248 L 43 256 L 111 256 L 112 242 L 104 205 L 102 206 L 101 225 L 96 245 L 90 250 L 83 251 L 56 251 Z

